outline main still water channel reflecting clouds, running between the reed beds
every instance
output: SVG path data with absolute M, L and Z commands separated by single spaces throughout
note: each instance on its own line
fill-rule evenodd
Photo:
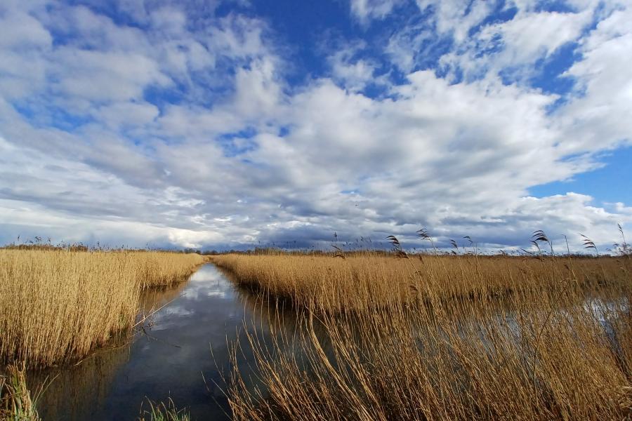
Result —
M 169 397 L 193 420 L 230 419 L 220 370 L 228 374 L 230 344 L 244 335 L 244 326 L 265 323 L 256 307 L 211 264 L 176 289 L 144 300 L 145 307 L 164 307 L 131 343 L 46 373 L 57 377 L 38 405 L 44 421 L 135 420 L 146 398 Z

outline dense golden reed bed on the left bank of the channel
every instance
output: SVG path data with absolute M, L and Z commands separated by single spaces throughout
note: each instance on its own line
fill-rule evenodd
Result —
M 0 361 L 84 358 L 131 326 L 143 288 L 186 279 L 197 254 L 0 249 Z

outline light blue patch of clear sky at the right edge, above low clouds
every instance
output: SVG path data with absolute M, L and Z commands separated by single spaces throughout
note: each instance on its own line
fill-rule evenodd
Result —
M 632 145 L 620 147 L 602 154 L 598 161 L 601 168 L 574 175 L 571 180 L 550 182 L 529 188 L 535 197 L 574 192 L 592 196 L 597 205 L 623 202 L 632 204 Z

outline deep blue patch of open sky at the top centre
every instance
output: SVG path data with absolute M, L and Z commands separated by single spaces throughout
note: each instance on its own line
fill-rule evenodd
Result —
M 221 8 L 228 6 L 220 6 Z M 218 12 L 220 11 L 218 9 Z M 425 20 L 428 13 L 420 13 L 414 2 L 397 6 L 395 13 L 383 19 L 360 22 L 349 13 L 349 6 L 342 1 L 296 2 L 291 0 L 254 1 L 251 13 L 264 17 L 274 28 L 275 35 L 291 55 L 291 68 L 287 69 L 286 80 L 290 86 L 301 86 L 309 79 L 330 76 L 327 56 L 340 48 L 364 41 L 362 48 L 355 51 L 351 62 L 370 60 L 376 64 L 374 76 L 388 74 L 395 84 L 407 83 L 404 75 L 392 69 L 392 62 L 383 51 L 393 27 L 405 27 L 411 20 Z M 297 42 L 299 41 L 299 42 Z M 437 46 L 443 48 L 442 45 Z M 449 46 L 438 51 L 428 48 L 432 54 L 419 59 L 423 68 L 433 67 Z M 379 98 L 388 92 L 377 83 L 362 91 L 369 98 Z

